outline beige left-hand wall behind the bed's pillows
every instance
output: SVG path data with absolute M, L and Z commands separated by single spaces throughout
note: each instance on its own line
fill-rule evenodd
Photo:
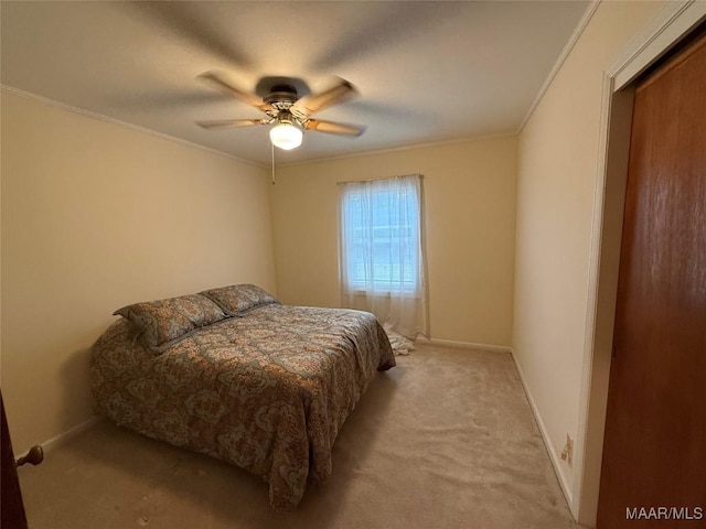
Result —
M 2 393 L 15 452 L 92 417 L 119 306 L 275 291 L 267 171 L 2 94 Z

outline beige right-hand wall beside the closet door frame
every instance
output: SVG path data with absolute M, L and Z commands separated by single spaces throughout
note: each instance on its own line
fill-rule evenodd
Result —
M 602 2 L 520 134 L 513 348 L 570 500 L 558 456 L 582 420 L 602 72 L 661 8 Z

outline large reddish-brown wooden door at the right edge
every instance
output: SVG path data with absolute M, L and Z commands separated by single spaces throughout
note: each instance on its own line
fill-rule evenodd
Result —
M 706 527 L 703 32 L 635 90 L 597 527 Z

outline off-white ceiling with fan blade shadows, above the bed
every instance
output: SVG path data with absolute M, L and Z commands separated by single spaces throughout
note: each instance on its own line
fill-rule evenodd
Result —
M 280 163 L 516 132 L 588 1 L 0 3 L 6 87 L 267 164 L 261 118 L 195 77 L 246 91 L 263 77 L 313 93 L 335 76 L 357 97 L 314 117 L 365 125 L 360 138 L 307 131 Z

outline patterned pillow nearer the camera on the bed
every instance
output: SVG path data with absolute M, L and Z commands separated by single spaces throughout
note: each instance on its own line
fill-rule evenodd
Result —
M 227 317 L 218 305 L 199 294 L 135 303 L 113 314 L 130 321 L 142 343 L 159 353 L 192 331 Z

